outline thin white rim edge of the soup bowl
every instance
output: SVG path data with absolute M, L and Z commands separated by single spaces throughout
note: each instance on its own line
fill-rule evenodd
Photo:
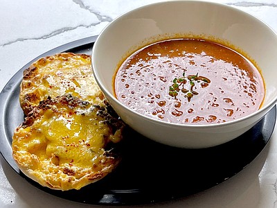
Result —
M 204 4 L 208 4 L 208 5 L 212 5 L 212 6 L 221 6 L 222 8 L 228 8 L 229 10 L 233 10 L 234 12 L 238 12 L 242 15 L 247 16 L 248 18 L 251 18 L 255 21 L 257 21 L 259 24 L 264 25 L 269 32 L 271 32 L 273 35 L 276 36 L 277 39 L 277 32 L 274 31 L 268 24 L 266 24 L 264 21 L 262 21 L 261 19 L 258 19 L 258 17 L 255 17 L 254 15 L 249 14 L 248 12 L 244 12 L 243 10 L 240 10 L 238 8 L 234 8 L 231 5 L 228 5 L 226 3 L 219 3 L 219 2 L 213 2 L 213 1 L 206 1 L 206 0 L 172 0 L 172 1 L 159 1 L 159 2 L 154 2 L 154 3 L 148 3 L 146 5 L 143 6 L 139 6 L 138 8 L 134 8 L 132 10 L 128 10 L 127 12 L 123 12 L 123 14 L 119 15 L 118 17 L 116 17 L 114 20 L 112 20 L 109 24 L 107 24 L 107 26 L 105 26 L 102 31 L 100 32 L 100 34 L 98 35 L 96 42 L 94 42 L 93 44 L 93 49 L 92 49 L 92 70 L 93 70 L 93 74 L 95 76 L 96 82 L 98 83 L 100 89 L 102 89 L 102 91 L 104 92 L 104 94 L 107 94 L 109 96 L 109 98 L 112 99 L 112 101 L 114 103 L 116 103 L 117 105 L 120 105 L 120 107 L 123 107 L 125 110 L 127 110 L 128 112 L 131 112 L 132 114 L 136 114 L 136 116 L 141 117 L 142 119 L 145 120 L 150 120 L 152 123 L 159 123 L 159 124 L 163 124 L 163 125 L 171 125 L 173 127 L 186 127 L 186 128 L 220 128 L 226 125 L 233 125 L 236 123 L 241 123 L 243 121 L 248 120 L 251 117 L 256 116 L 257 114 L 260 113 L 264 113 L 266 114 L 267 112 L 269 112 L 269 110 L 271 110 L 272 107 L 274 107 L 274 105 L 277 103 L 277 96 L 275 96 L 275 98 L 273 98 L 269 103 L 267 103 L 266 105 L 263 105 L 256 110 L 256 112 L 252 112 L 251 114 L 248 114 L 246 116 L 242 116 L 239 119 L 234 119 L 232 121 L 226 121 L 224 123 L 207 123 L 207 124 L 191 124 L 191 123 L 170 123 L 168 121 L 162 121 L 159 119 L 155 119 L 152 118 L 150 116 L 146 116 L 144 114 L 141 114 L 139 112 L 136 112 L 135 110 L 132 110 L 131 108 L 123 105 L 123 103 L 120 103 L 120 101 L 118 101 L 118 99 L 116 98 L 116 96 L 112 93 L 109 92 L 109 90 L 105 87 L 105 85 L 102 83 L 102 81 L 100 80 L 99 76 L 98 76 L 98 71 L 96 70 L 96 65 L 95 65 L 95 54 L 96 54 L 96 49 L 98 47 L 98 42 L 100 42 L 100 40 L 102 39 L 102 34 L 105 33 L 105 31 L 107 31 L 107 29 L 114 23 L 116 23 L 117 21 L 120 21 L 120 19 L 122 19 L 123 17 L 126 17 L 129 14 L 132 14 L 132 12 L 138 11 L 138 10 L 143 10 L 144 8 L 148 8 L 148 7 L 152 7 L 152 6 L 156 6 L 156 5 L 162 5 L 162 4 L 168 4 L 168 3 L 204 3 Z M 266 89 L 266 86 L 265 86 Z M 109 100 L 109 98 L 107 98 Z M 263 117 L 263 116 L 262 116 Z M 262 119 L 262 118 L 260 118 Z M 257 120 L 258 122 L 258 120 Z

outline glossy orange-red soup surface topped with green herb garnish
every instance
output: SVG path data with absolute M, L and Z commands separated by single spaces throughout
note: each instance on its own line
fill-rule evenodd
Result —
M 170 123 L 223 123 L 259 109 L 262 76 L 240 53 L 215 42 L 164 40 L 119 67 L 114 91 L 132 110 Z

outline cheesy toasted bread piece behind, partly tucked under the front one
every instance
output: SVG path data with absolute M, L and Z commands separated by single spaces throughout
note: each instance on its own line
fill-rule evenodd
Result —
M 90 55 L 58 53 L 40 58 L 24 70 L 19 94 L 24 114 L 49 96 L 64 94 L 101 105 L 104 95 L 94 79 Z

